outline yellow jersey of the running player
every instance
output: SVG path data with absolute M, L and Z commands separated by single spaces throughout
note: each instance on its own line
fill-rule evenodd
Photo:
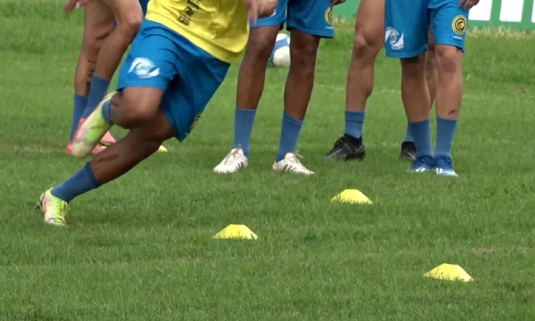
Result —
M 240 55 L 249 36 L 242 0 L 151 0 L 146 19 L 178 32 L 227 63 Z

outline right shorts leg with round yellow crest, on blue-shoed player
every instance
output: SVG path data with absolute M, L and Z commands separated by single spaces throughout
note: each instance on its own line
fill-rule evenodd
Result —
M 430 1 L 433 4 L 436 1 Z M 454 46 L 464 51 L 469 10 L 464 10 L 457 1 L 439 1 L 430 7 L 431 25 L 435 45 Z

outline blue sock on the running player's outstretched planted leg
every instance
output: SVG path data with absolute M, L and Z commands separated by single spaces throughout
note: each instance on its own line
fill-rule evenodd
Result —
M 86 193 L 90 190 L 98 188 L 100 184 L 95 180 L 91 165 L 86 163 L 85 166 L 76 174 L 68 178 L 68 180 L 52 188 L 52 195 L 61 200 L 70 202 L 76 196 Z

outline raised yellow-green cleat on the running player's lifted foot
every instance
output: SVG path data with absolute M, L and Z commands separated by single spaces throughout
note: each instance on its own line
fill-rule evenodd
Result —
M 96 109 L 91 113 L 86 121 L 76 130 L 73 138 L 72 154 L 76 158 L 84 158 L 91 154 L 91 151 L 98 146 L 101 139 L 110 130 L 112 124 L 107 123 L 102 116 L 102 106 L 104 103 L 111 101 L 111 93 L 104 97 L 103 101 L 98 104 Z

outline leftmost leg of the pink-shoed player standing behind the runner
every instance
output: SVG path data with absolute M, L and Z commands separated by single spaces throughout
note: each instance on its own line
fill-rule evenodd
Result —
M 80 123 L 83 111 L 86 109 L 88 93 L 91 88 L 91 78 L 95 71 L 98 52 L 103 42 L 113 28 L 113 13 L 98 1 L 88 5 L 83 10 L 83 40 L 76 63 L 74 74 L 74 109 L 71 124 L 71 136 L 67 144 L 66 153 L 72 151 L 74 132 Z M 101 146 L 95 148 L 95 153 L 101 151 Z

